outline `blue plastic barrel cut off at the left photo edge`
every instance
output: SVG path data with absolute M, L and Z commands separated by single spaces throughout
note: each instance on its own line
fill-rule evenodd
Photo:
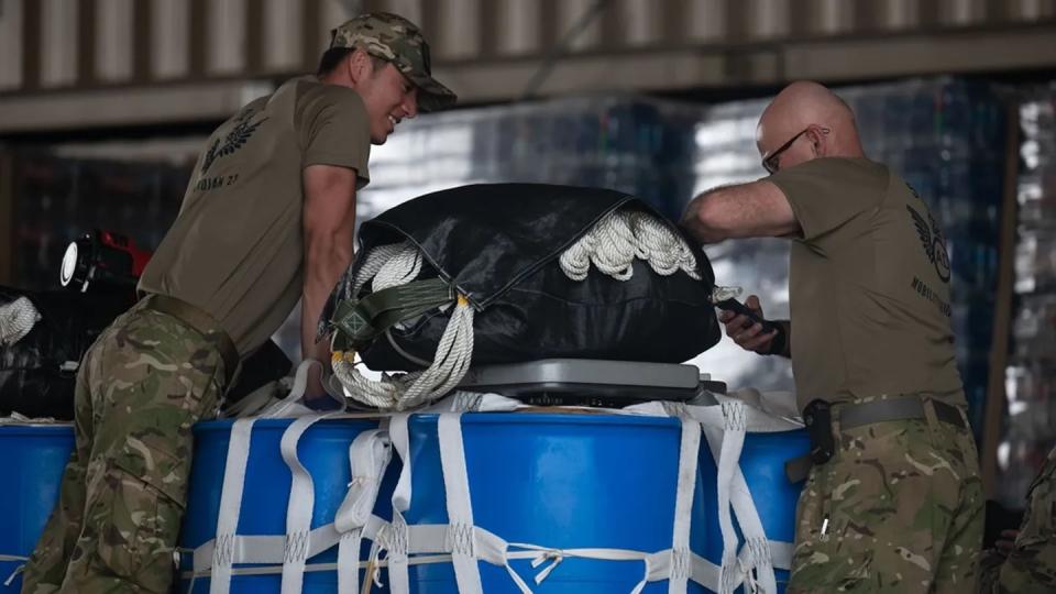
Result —
M 74 428 L 69 425 L 2 425 L 0 452 L 4 461 L 0 488 L 0 554 L 29 557 L 58 501 L 58 487 L 69 454 Z M 3 582 L 24 561 L 0 561 L 0 592 L 19 592 L 21 574 Z

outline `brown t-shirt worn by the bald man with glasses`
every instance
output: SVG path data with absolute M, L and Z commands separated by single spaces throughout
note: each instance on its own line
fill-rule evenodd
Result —
M 789 280 L 800 407 L 923 393 L 964 406 L 949 255 L 924 201 L 866 158 L 816 158 L 767 179 L 803 230 Z

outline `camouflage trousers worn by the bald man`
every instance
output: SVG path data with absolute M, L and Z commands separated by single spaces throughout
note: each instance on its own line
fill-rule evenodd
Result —
M 840 429 L 796 509 L 788 592 L 957 592 L 976 587 L 983 497 L 970 432 L 925 419 Z

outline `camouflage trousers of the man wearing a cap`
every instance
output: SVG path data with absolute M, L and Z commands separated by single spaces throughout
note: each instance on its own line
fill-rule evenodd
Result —
M 191 426 L 216 416 L 223 362 L 200 333 L 142 302 L 77 374 L 76 446 L 23 593 L 167 593 L 190 473 Z

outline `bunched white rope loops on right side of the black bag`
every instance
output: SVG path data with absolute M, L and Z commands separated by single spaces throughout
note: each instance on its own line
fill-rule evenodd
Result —
M 618 280 L 634 275 L 635 258 L 649 263 L 661 276 L 679 271 L 700 280 L 693 250 L 663 221 L 646 212 L 610 212 L 561 254 L 564 274 L 583 280 L 593 264 Z

